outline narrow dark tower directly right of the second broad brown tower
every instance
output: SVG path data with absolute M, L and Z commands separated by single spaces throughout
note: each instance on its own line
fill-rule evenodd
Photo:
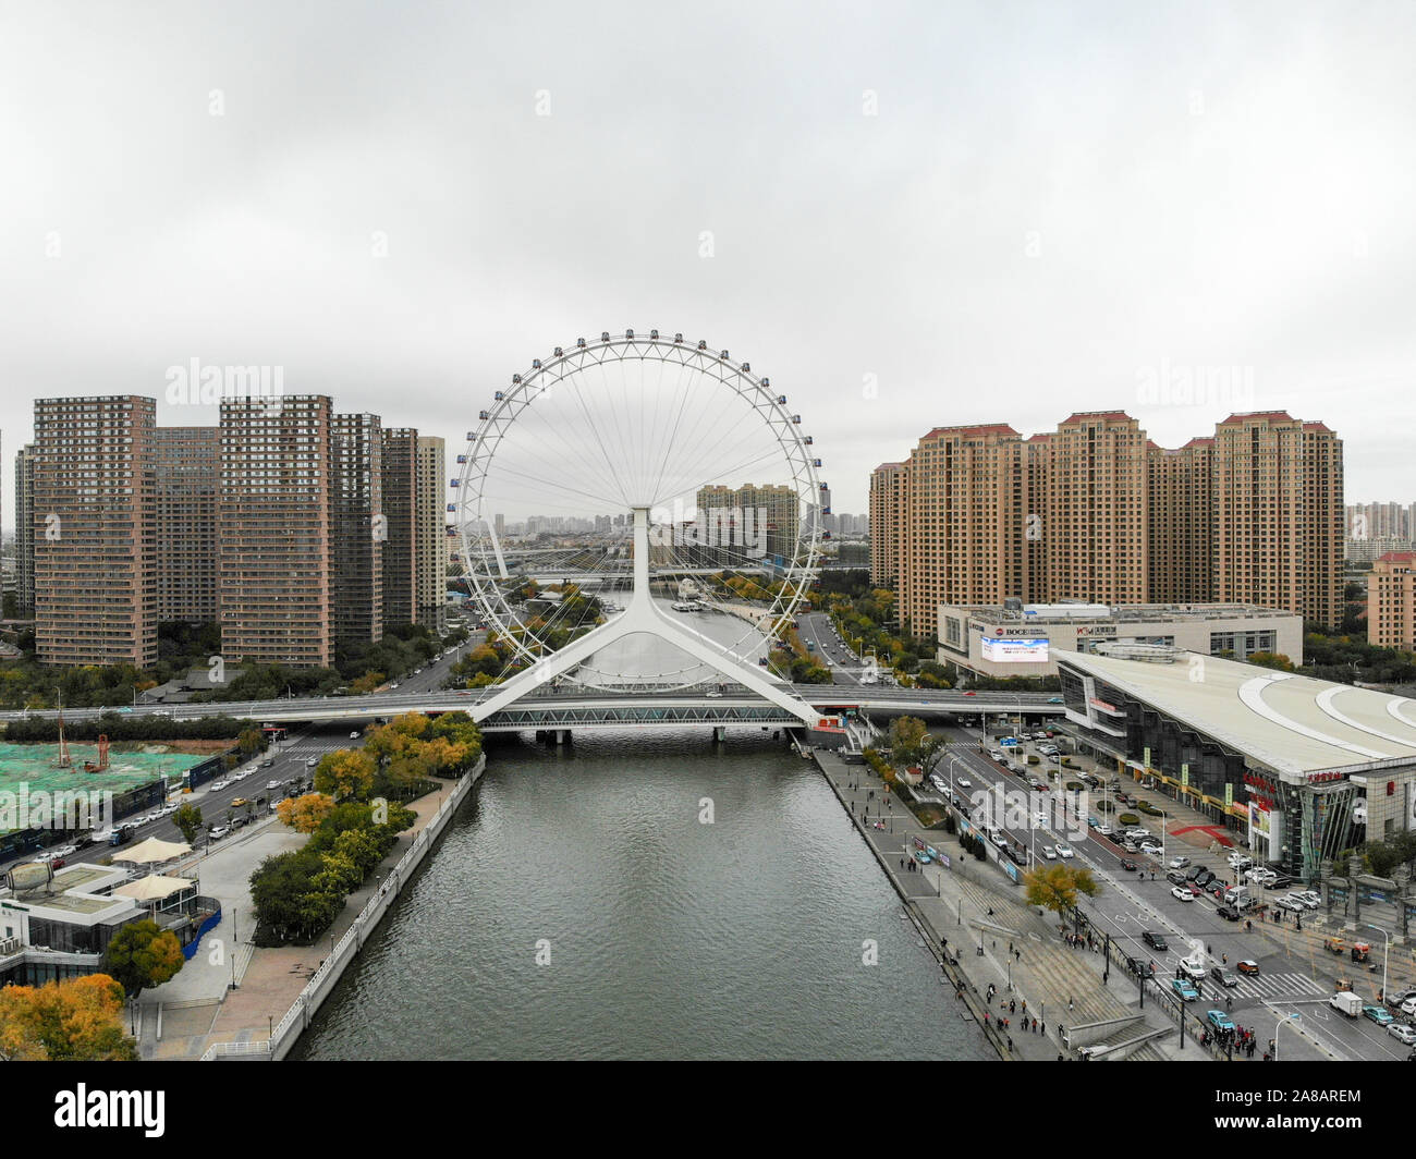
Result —
M 330 435 L 330 606 L 337 645 L 384 636 L 382 424 L 378 415 L 334 415 Z

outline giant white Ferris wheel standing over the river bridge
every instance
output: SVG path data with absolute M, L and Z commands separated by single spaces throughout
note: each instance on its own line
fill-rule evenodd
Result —
M 510 667 L 593 631 L 605 646 L 561 679 L 714 679 L 677 623 L 760 672 L 830 513 L 813 439 L 766 377 L 683 334 L 605 332 L 534 358 L 477 421 L 453 480 L 460 562 Z

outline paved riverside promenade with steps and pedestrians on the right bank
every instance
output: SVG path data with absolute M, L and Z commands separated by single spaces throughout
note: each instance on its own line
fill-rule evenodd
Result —
M 1110 983 L 1103 983 L 1102 955 L 1068 946 L 1058 934 L 1058 918 L 1039 915 L 1024 904 L 1021 890 L 995 867 L 961 854 L 957 837 L 923 829 L 903 805 L 893 802 L 892 795 L 882 793 L 879 779 L 865 767 L 847 765 L 830 751 L 813 755 L 888 878 L 905 898 L 936 958 L 940 956 L 942 939 L 947 939 L 952 961 L 943 963 L 944 972 L 956 988 L 963 983 L 957 1000 L 967 1002 L 1000 1057 L 1055 1061 L 1059 1054 L 1068 1053 L 1058 1037 L 1065 1024 L 1080 1026 L 1141 1013 L 1136 988 L 1116 971 Z M 858 788 L 852 789 L 852 785 Z M 868 799 L 871 789 L 875 799 Z M 862 825 L 862 810 L 869 810 L 871 822 L 884 816 L 886 829 Z M 915 836 L 947 853 L 950 867 L 925 866 L 919 873 L 902 869 L 906 847 L 912 847 Z M 990 983 L 998 990 L 991 1002 L 987 995 Z M 1017 1003 L 1012 1013 L 1007 1010 L 1008 1000 Z M 1021 1029 L 1024 1000 L 1029 1019 L 1038 1019 L 1038 1033 Z M 997 1026 L 1000 1010 L 1001 1017 L 1011 1023 L 1007 1030 Z M 1157 1020 L 1150 1026 L 1172 1027 L 1172 1023 Z M 1136 1031 L 1143 1029 L 1137 1023 Z M 1188 1039 L 1181 1048 L 1178 1031 L 1172 1030 L 1130 1057 L 1161 1061 L 1206 1056 Z

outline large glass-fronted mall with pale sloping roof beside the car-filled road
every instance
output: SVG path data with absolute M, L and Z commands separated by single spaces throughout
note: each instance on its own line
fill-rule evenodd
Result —
M 1056 663 L 1082 751 L 1164 784 L 1296 878 L 1416 827 L 1413 700 L 1164 645 Z

